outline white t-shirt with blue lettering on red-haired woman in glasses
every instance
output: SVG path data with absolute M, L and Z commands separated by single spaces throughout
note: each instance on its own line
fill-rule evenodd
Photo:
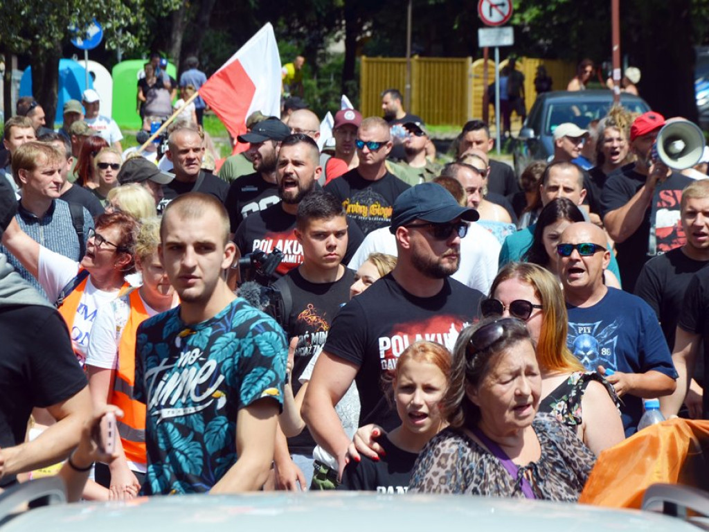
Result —
M 40 246 L 38 281 L 50 301 L 57 301 L 62 288 L 67 286 L 69 281 L 77 276 L 77 273 L 79 273 L 78 262 Z M 111 292 L 99 290 L 91 283 L 91 276 L 86 277 L 84 294 L 79 301 L 77 314 L 74 316 L 74 323 L 70 331 L 74 353 L 77 354 L 82 365 L 86 360 L 86 349 L 89 347 L 91 328 L 94 326 L 96 314 L 101 307 L 108 306 L 113 299 L 116 299 L 118 292 L 118 290 Z

